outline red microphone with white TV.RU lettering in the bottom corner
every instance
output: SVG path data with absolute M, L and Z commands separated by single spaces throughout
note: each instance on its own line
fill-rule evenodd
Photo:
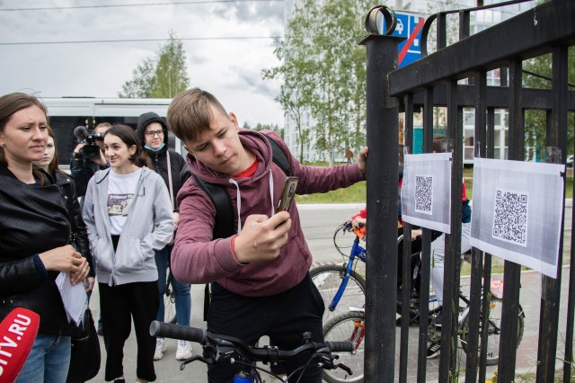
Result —
M 14 308 L 0 323 L 0 381 L 13 382 L 31 351 L 40 316 L 22 307 Z

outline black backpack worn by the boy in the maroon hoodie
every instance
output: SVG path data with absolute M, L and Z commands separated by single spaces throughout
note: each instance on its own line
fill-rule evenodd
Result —
M 286 152 L 279 146 L 279 144 L 265 134 L 263 137 L 268 138 L 271 146 L 272 160 L 274 164 L 278 165 L 286 175 L 291 175 L 291 168 L 289 166 L 288 156 Z M 226 191 L 226 186 L 216 183 L 206 183 L 199 179 L 196 174 L 192 174 L 188 166 L 184 167 L 181 172 L 181 183 L 183 184 L 190 175 L 194 177 L 199 187 L 208 194 L 209 199 L 216 208 L 216 222 L 214 224 L 213 239 L 227 238 L 234 235 L 234 206 L 229 193 Z M 204 320 L 208 318 L 209 307 L 209 285 L 206 284 L 204 296 Z

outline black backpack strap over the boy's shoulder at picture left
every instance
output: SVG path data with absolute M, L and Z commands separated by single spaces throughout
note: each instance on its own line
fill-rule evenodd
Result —
M 226 188 L 214 183 L 205 183 L 196 174 L 191 173 L 199 187 L 208 194 L 209 199 L 216 208 L 216 222 L 214 223 L 214 239 L 227 238 L 234 235 L 234 209 L 232 200 Z

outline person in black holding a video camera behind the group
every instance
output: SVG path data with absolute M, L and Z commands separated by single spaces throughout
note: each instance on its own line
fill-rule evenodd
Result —
M 93 174 L 110 166 L 106 162 L 106 157 L 103 153 L 104 143 L 102 140 L 104 133 L 110 128 L 110 122 L 101 122 L 93 129 L 94 144 L 99 147 L 97 156 L 94 156 L 96 152 L 86 153 L 86 147 L 93 146 L 93 144 L 86 143 L 85 138 L 83 139 L 84 142 L 80 142 L 74 149 L 74 158 L 72 158 L 70 163 L 70 173 L 74 178 L 75 193 L 78 198 L 83 197 L 86 193 L 88 182 Z

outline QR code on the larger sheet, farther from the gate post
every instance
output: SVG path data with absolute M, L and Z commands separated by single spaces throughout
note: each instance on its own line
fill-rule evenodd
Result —
M 527 245 L 527 194 L 495 191 L 493 237 L 517 245 Z

